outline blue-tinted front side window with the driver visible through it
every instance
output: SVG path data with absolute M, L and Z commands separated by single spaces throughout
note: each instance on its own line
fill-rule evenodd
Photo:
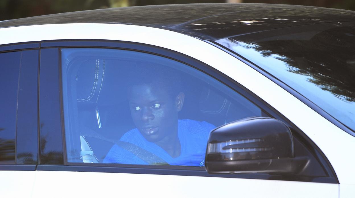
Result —
M 204 166 L 214 128 L 265 116 L 209 75 L 169 58 L 61 49 L 68 162 Z

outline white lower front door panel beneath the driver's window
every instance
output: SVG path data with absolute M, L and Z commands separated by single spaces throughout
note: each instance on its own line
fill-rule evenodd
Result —
M 36 172 L 32 197 L 338 196 L 338 185 L 329 183 L 102 172 Z M 65 189 L 61 190 L 63 184 Z

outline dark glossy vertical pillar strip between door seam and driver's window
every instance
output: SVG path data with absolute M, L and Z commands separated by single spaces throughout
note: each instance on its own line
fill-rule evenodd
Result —
M 58 48 L 41 49 L 39 68 L 40 164 L 64 163 L 58 66 Z

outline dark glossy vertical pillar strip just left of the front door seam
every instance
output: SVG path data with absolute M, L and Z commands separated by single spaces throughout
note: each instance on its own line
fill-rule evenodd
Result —
M 39 50 L 24 50 L 21 55 L 16 164 L 38 163 L 38 56 Z

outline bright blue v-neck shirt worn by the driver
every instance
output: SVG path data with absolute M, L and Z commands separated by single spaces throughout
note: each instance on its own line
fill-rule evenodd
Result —
M 209 132 L 214 128 L 214 125 L 205 121 L 179 120 L 178 137 L 181 144 L 181 152 L 180 156 L 176 158 L 171 157 L 164 149 L 155 143 L 147 141 L 138 129 L 132 129 L 126 132 L 120 140 L 135 144 L 157 155 L 170 165 L 204 166 Z M 133 153 L 118 145 L 114 145 L 110 149 L 103 163 L 147 164 Z

